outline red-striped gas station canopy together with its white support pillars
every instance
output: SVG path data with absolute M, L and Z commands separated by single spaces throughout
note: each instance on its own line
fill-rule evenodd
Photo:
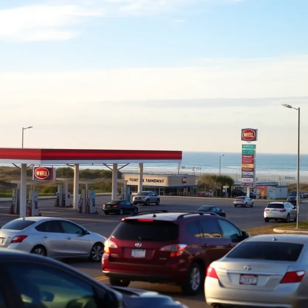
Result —
M 180 163 L 181 161 L 182 151 L 0 148 L 0 163 L 21 165 L 20 217 L 26 216 L 27 209 L 27 165 L 74 165 L 73 208 L 77 209 L 79 165 L 112 164 L 113 168 L 109 166 L 108 168 L 112 170 L 111 198 L 115 200 L 118 164 L 139 163 L 138 191 L 140 191 L 144 163 Z

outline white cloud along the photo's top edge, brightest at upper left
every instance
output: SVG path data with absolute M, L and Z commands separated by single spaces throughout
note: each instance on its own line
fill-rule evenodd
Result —
M 234 0 L 215 0 L 215 5 Z M 0 9 L 0 39 L 63 41 L 79 35 L 76 26 L 94 17 L 136 16 L 173 12 L 213 0 L 45 0 L 37 5 Z M 183 22 L 175 20 L 174 22 Z

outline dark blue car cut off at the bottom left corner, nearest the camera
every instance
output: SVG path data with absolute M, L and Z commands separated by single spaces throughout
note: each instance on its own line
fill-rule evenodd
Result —
M 35 254 L 0 250 L 0 307 L 182 307 L 169 296 L 107 287 L 69 265 Z

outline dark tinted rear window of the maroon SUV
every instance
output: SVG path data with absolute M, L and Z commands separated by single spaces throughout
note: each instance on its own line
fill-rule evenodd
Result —
M 178 238 L 179 226 L 170 221 L 138 221 L 128 219 L 121 222 L 111 236 L 125 241 L 166 242 Z

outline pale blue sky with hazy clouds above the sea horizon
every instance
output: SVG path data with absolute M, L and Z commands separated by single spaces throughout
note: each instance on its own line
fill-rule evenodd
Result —
M 0 0 L 0 146 L 308 154 L 307 0 Z

